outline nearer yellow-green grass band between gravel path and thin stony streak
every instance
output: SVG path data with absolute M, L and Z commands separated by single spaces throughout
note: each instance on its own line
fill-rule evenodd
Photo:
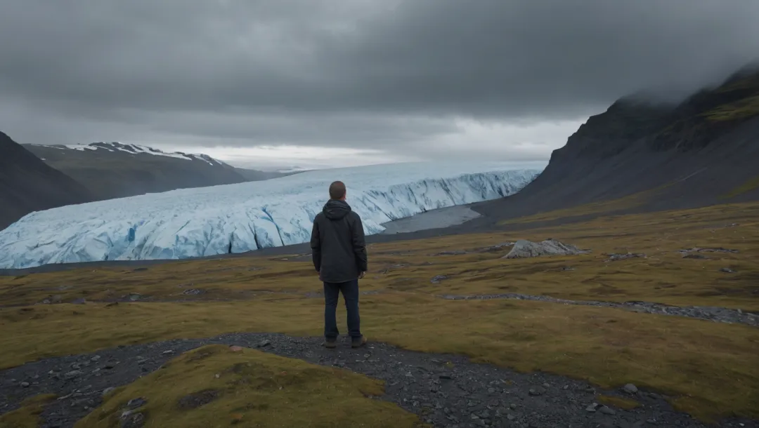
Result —
M 288 301 L 55 305 L 2 314 L 0 366 L 119 344 L 226 332 L 321 333 L 323 304 Z M 77 314 L 74 314 L 74 311 Z M 701 417 L 759 417 L 759 329 L 683 317 L 534 301 L 442 301 L 397 293 L 362 298 L 370 339 L 417 351 L 545 370 L 600 386 L 625 383 L 678 397 Z M 344 319 L 340 309 L 339 319 Z

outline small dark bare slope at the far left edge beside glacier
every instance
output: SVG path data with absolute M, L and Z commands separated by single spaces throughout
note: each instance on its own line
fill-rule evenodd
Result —
M 92 198 L 80 183 L 0 132 L 0 230 L 32 211 Z

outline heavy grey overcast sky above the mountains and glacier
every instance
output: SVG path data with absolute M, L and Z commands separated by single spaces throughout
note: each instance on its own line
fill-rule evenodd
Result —
M 0 130 L 249 167 L 547 160 L 759 56 L 754 0 L 2 0 Z

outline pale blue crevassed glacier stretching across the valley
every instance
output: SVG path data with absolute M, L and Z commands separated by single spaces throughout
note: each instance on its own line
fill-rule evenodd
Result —
M 512 195 L 543 167 L 521 165 L 421 162 L 313 170 L 36 211 L 0 231 L 0 268 L 194 258 L 307 242 L 334 180 L 345 182 L 348 204 L 371 235 L 398 218 Z

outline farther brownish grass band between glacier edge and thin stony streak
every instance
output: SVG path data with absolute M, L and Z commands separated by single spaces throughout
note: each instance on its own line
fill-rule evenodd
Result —
M 734 223 L 737 225 L 732 226 Z M 549 237 L 591 249 L 591 254 L 505 260 L 475 250 L 516 239 Z M 724 247 L 738 253 L 682 258 L 680 249 Z M 604 253 L 638 252 L 647 258 L 606 262 Z M 759 311 L 759 204 L 716 205 L 686 211 L 599 217 L 582 223 L 511 233 L 443 236 L 370 245 L 370 273 L 362 289 L 379 292 L 493 294 L 520 292 L 576 300 L 656 301 Z M 137 292 L 156 300 L 265 300 L 320 291 L 310 261 L 230 258 L 132 268 L 80 269 L 0 277 L 2 305 L 30 305 L 46 296 L 93 301 Z M 302 260 L 302 259 L 301 259 Z M 399 266 L 402 265 L 402 266 Z M 570 266 L 574 270 L 562 270 Z M 737 273 L 723 273 L 729 267 Z M 251 270 L 252 269 L 252 270 Z M 430 283 L 433 276 L 448 280 Z M 203 289 L 203 295 L 182 295 Z M 56 297 L 58 298 L 58 297 Z

